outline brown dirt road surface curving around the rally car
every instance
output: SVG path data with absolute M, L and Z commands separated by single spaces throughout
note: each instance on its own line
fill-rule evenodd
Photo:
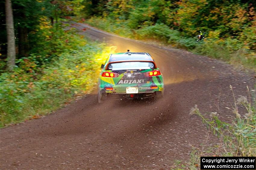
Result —
M 207 129 L 190 109 L 197 104 L 201 112 L 229 119 L 229 85 L 238 97 L 248 96 L 246 85 L 253 89 L 255 83 L 254 75 L 184 50 L 94 28 L 82 34 L 117 46 L 117 52 L 149 52 L 164 75 L 164 98 L 98 104 L 95 90 L 53 114 L 1 129 L 0 169 L 170 169 L 205 142 Z

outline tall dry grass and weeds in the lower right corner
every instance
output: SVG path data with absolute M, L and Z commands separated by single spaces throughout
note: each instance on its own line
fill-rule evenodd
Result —
M 229 156 L 229 157 L 255 157 L 256 155 L 256 98 L 251 96 L 249 89 L 249 101 L 244 96 L 235 97 L 232 86 L 234 103 L 226 107 L 232 111 L 231 121 L 221 121 L 217 112 L 202 114 L 197 105 L 190 111 L 190 115 L 197 115 L 208 128 L 207 136 L 212 133 L 219 139 L 219 145 L 208 147 L 206 143 L 200 148 L 192 146 L 190 160 L 188 163 L 176 160 L 173 162 L 172 170 L 197 170 L 200 169 L 200 157 L 202 156 Z M 253 98 L 253 100 L 251 100 Z M 245 115 L 240 115 L 239 109 L 245 109 Z

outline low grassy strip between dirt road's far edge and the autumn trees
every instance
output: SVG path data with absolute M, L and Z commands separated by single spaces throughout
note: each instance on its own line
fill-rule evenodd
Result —
M 170 29 L 167 25 L 144 25 L 139 29 L 131 29 L 128 20 L 96 17 L 85 21 L 91 26 L 107 32 L 138 40 L 156 40 L 175 48 L 186 49 L 199 55 L 207 55 L 234 64 L 237 67 L 256 71 L 256 52 L 249 50 L 244 42 L 236 38 L 216 38 L 214 32 L 206 33 L 203 41 L 197 43 L 197 37 L 185 37 L 182 32 Z M 253 41 L 253 40 L 252 40 Z

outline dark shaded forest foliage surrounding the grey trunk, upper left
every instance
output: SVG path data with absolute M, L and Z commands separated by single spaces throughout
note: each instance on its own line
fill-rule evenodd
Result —
M 51 26 L 55 25 L 58 29 L 59 17 L 72 15 L 71 7 L 77 8 L 78 5 L 71 5 L 69 0 L 12 0 L 15 43 L 17 46 L 17 58 L 22 58 L 30 54 L 30 50 L 38 47 L 40 34 L 40 24 L 42 19 L 51 20 Z M 75 1 L 72 1 L 75 3 Z M 2 58 L 6 57 L 7 36 L 5 26 L 5 4 L 0 2 L 0 49 Z M 57 23 L 57 24 L 55 24 Z M 55 36 L 55 35 L 53 35 Z

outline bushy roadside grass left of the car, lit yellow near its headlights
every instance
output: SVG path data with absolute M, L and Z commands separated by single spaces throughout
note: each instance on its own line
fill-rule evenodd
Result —
M 13 72 L 1 73 L 0 127 L 39 118 L 89 93 L 97 83 L 100 64 L 114 50 L 84 39 L 73 29 L 59 30 L 54 40 L 47 40 L 47 34 L 43 37 L 42 51 L 34 49 L 35 53 L 16 61 Z

